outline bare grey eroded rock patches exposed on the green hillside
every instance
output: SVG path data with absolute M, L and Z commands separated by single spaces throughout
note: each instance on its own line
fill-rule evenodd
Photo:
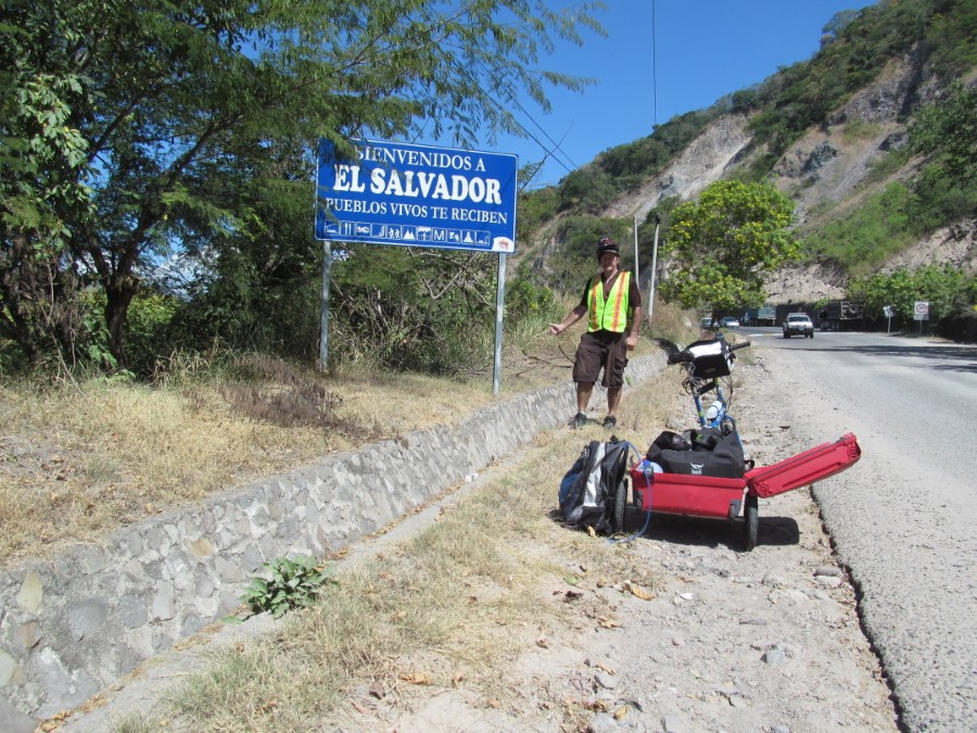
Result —
M 811 129 L 784 153 L 772 180 L 797 202 L 801 231 L 858 207 L 866 195 L 888 182 L 914 175 L 917 160 L 886 175 L 879 175 L 876 166 L 889 151 L 908 143 L 909 113 L 931 103 L 937 93 L 936 80 L 911 53 L 890 63 L 871 87 L 830 115 L 825 126 Z M 709 184 L 748 166 L 763 152 L 749 149 L 748 122 L 743 115 L 719 118 L 638 191 L 617 200 L 605 216 L 624 214 L 644 219 L 663 199 L 693 199 Z M 897 255 L 884 271 L 927 263 L 977 269 L 977 220 L 935 232 Z M 845 294 L 845 277 L 824 264 L 788 267 L 770 280 L 767 294 L 778 303 L 840 298 Z

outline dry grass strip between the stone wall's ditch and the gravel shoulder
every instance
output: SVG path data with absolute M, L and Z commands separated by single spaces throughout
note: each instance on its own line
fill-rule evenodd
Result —
M 650 439 L 675 406 L 667 377 L 643 384 L 622 405 L 622 433 Z M 217 655 L 160 715 L 180 731 L 346 730 L 363 719 L 345 720 L 352 708 L 338 704 L 370 685 L 406 707 L 428 685 L 465 686 L 485 706 L 526 713 L 506 670 L 541 639 L 568 641 L 581 609 L 561 593 L 625 579 L 656 585 L 626 543 L 554 521 L 562 472 L 582 442 L 604 435 L 596 427 L 540 435 L 523 464 L 449 504 L 413 539 L 338 572 L 321 603 L 274 636 Z

